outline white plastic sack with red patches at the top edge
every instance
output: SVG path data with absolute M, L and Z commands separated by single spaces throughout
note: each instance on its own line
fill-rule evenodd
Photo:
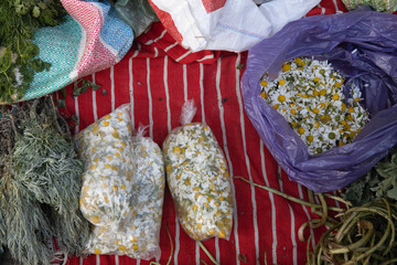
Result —
M 300 19 L 320 0 L 149 0 L 167 31 L 184 47 L 246 51 Z

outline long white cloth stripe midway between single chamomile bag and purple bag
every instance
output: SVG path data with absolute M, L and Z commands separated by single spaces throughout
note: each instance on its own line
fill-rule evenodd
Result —
M 239 71 L 239 70 L 237 70 L 237 67 L 236 67 L 236 71 Z M 244 156 L 245 156 L 245 163 L 247 166 L 249 181 L 254 181 L 253 180 L 253 174 L 251 174 L 251 171 L 250 171 L 250 163 L 249 163 L 248 152 L 247 152 L 247 139 L 246 139 L 246 134 L 245 134 L 245 121 L 244 121 L 244 106 L 243 106 L 243 99 L 242 99 L 239 83 L 236 85 L 236 95 L 237 95 L 237 99 L 238 99 L 239 114 L 240 114 L 240 129 L 242 129 L 242 140 L 243 140 L 243 150 L 244 150 Z M 255 236 L 254 237 L 255 239 L 255 254 L 256 254 L 255 259 L 257 259 L 257 258 L 259 258 L 258 210 L 257 210 L 257 204 L 256 204 L 256 200 L 255 200 L 255 187 L 250 186 L 250 190 L 251 190 L 253 219 L 254 219 L 254 233 L 255 233 L 254 234 L 254 236 Z

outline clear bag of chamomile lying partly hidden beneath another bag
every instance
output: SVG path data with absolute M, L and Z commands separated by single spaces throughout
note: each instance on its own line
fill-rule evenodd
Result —
M 87 252 L 119 254 L 133 258 L 160 257 L 160 227 L 164 195 L 164 163 L 161 149 L 150 138 L 135 137 L 137 183 L 128 218 L 115 231 L 96 226 Z

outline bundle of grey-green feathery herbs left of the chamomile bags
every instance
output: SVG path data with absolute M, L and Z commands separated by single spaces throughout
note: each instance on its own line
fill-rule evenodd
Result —
M 50 97 L 2 108 L 0 243 L 21 264 L 49 264 L 53 237 L 79 254 L 89 224 L 78 209 L 83 162 Z

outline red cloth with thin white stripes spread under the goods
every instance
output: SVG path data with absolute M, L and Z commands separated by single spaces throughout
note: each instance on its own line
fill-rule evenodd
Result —
M 341 0 L 323 0 L 309 15 L 337 11 L 345 11 Z M 119 105 L 131 103 L 135 128 L 140 123 L 149 125 L 148 135 L 161 146 L 171 129 L 179 126 L 183 103 L 194 98 L 197 114 L 193 121 L 205 123 L 212 128 L 226 156 L 230 176 L 244 177 L 307 200 L 307 190 L 290 181 L 280 170 L 244 112 L 239 82 L 246 56 L 247 53 L 217 51 L 189 53 L 174 44 L 161 24 L 154 24 L 118 64 L 87 76 L 107 91 L 106 96 L 98 89 L 73 98 L 69 86 L 66 109 L 78 116 L 78 131 Z M 307 243 L 298 240 L 297 231 L 314 216 L 310 210 L 238 179 L 233 180 L 233 191 L 235 215 L 230 240 L 203 242 L 218 263 L 245 264 L 242 258 L 245 256 L 247 264 L 257 264 L 257 261 L 265 264 L 266 254 L 267 264 L 304 264 Z M 212 264 L 198 244 L 179 225 L 168 190 L 160 234 L 161 258 L 157 262 L 167 264 L 170 256 L 167 224 L 174 246 L 171 264 L 198 265 L 201 259 Z M 310 231 L 311 247 L 322 232 L 324 229 Z M 112 255 L 68 261 L 71 265 L 149 263 Z

